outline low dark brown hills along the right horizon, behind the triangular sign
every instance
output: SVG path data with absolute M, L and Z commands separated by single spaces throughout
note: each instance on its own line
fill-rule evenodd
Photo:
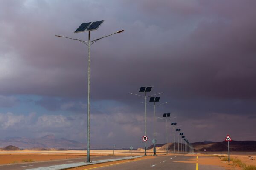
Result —
M 227 142 L 195 142 L 192 143 L 194 151 L 206 151 L 209 152 L 218 152 L 218 151 L 227 151 Z M 156 144 L 157 150 L 166 150 L 166 144 Z M 148 147 L 148 149 L 153 149 L 154 145 Z M 181 144 L 179 145 L 179 149 Z M 168 150 L 173 150 L 173 143 L 168 143 Z M 178 143 L 175 143 L 175 150 L 178 150 Z M 256 141 L 232 141 L 230 142 L 230 151 L 247 151 L 255 152 L 256 151 Z

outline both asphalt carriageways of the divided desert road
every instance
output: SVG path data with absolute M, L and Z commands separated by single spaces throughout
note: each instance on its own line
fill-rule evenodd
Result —
M 121 158 L 123 156 L 91 156 L 92 161 Z M 176 161 L 189 161 L 188 163 L 181 163 Z M 198 158 L 200 159 L 200 157 Z M 55 161 L 42 161 L 42 162 L 31 162 L 23 164 L 9 164 L 0 166 L 0 170 L 25 170 L 36 167 L 48 167 L 52 165 L 68 164 L 85 161 L 84 158 L 76 159 L 65 159 Z M 125 163 L 115 163 L 110 166 L 101 166 L 96 168 L 97 170 L 224 170 L 224 168 L 211 166 L 211 165 L 196 165 L 196 156 L 156 156 L 152 159 L 134 160 Z M 84 167 L 86 170 L 86 166 Z

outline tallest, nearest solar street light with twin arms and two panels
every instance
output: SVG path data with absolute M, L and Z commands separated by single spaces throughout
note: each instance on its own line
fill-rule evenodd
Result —
M 84 32 L 84 31 L 88 31 L 88 41 L 84 41 L 84 40 L 79 40 L 79 39 L 75 39 L 75 38 L 70 38 L 70 37 L 64 37 L 61 35 L 55 35 L 56 37 L 63 37 L 63 38 L 68 38 L 71 40 L 77 40 L 79 42 L 84 43 L 85 45 L 88 46 L 88 96 L 87 96 L 87 162 L 90 162 L 90 45 L 92 45 L 94 42 L 111 36 L 113 34 L 118 34 L 123 32 L 124 30 L 121 31 L 117 31 L 113 34 L 109 34 L 106 35 L 104 37 L 95 39 L 95 40 L 90 40 L 90 31 L 93 30 L 97 30 L 99 28 L 99 26 L 103 23 L 104 21 L 94 21 L 94 22 L 89 22 L 89 23 L 82 23 L 74 33 L 79 33 L 79 32 Z

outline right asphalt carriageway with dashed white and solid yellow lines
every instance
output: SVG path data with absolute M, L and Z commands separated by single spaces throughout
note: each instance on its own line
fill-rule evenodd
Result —
M 196 158 L 196 157 L 194 157 Z M 175 161 L 187 161 L 191 156 L 157 156 L 153 159 L 142 159 L 122 164 L 99 167 L 96 170 L 197 170 L 195 163 L 179 163 Z M 200 158 L 199 158 L 200 159 Z M 86 170 L 86 167 L 84 167 Z M 198 170 L 225 170 L 221 167 L 199 165 Z

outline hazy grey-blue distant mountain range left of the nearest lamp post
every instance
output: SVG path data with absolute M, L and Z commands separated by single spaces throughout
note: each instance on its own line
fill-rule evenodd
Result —
M 9 145 L 17 146 L 19 148 L 65 148 L 65 149 L 84 149 L 86 144 L 68 139 L 56 139 L 54 135 L 47 135 L 41 138 L 23 138 L 23 137 L 9 137 L 0 139 L 0 147 Z

